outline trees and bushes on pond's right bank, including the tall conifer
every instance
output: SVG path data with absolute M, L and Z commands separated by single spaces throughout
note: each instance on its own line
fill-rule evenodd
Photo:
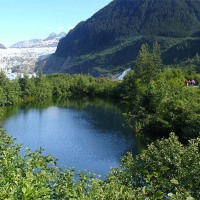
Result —
M 143 46 L 136 61 L 138 66 L 121 84 L 124 100 L 132 102 L 132 110 L 125 114 L 128 124 L 136 133 L 160 136 L 174 131 L 182 139 L 197 137 L 200 91 L 197 87 L 185 87 L 184 81 L 198 79 L 198 74 L 172 68 L 158 72 L 159 65 L 153 58 L 148 47 Z

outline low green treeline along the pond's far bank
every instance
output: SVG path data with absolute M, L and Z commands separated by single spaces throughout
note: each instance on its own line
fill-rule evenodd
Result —
M 119 83 L 108 78 L 94 78 L 90 75 L 55 74 L 16 80 L 8 80 L 0 73 L 0 106 L 14 105 L 21 101 L 47 98 L 114 97 Z

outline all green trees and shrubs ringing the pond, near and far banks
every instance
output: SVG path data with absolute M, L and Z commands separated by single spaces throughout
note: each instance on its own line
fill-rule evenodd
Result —
M 136 157 L 125 155 L 121 168 L 111 170 L 106 180 L 100 180 L 84 173 L 75 179 L 73 170 L 61 171 L 54 158 L 42 156 L 40 151 L 28 150 L 21 157 L 20 146 L 1 131 L 1 198 L 199 199 L 200 90 L 186 87 L 185 79 L 194 79 L 198 84 L 200 75 L 192 66 L 163 67 L 157 43 L 152 49 L 142 45 L 135 70 L 121 82 L 85 75 L 8 81 L 1 74 L 1 105 L 14 104 L 18 99 L 103 95 L 130 106 L 125 114 L 127 124 L 138 136 L 169 137 L 148 145 Z

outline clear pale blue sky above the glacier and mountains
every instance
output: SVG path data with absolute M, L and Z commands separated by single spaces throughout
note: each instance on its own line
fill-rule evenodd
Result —
M 112 0 L 0 0 L 0 43 L 6 47 L 68 32 Z

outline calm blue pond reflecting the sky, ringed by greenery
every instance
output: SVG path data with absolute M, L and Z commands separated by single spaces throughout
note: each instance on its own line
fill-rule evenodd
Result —
M 31 150 L 42 147 L 59 166 L 102 176 L 119 166 L 125 152 L 139 151 L 133 133 L 123 124 L 122 109 L 99 99 L 23 104 L 7 108 L 0 121 L 17 143 Z

